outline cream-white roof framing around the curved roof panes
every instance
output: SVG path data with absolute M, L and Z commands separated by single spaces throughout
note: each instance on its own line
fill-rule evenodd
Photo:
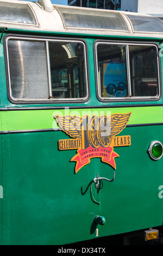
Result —
M 84 8 L 84 7 L 73 7 L 70 5 L 59 5 L 51 4 L 50 0 L 38 0 L 38 2 L 29 2 L 29 1 L 19 1 L 19 0 L 0 0 L 0 2 L 5 3 L 17 3 L 17 4 L 28 4 L 33 11 L 34 17 L 36 19 L 36 25 L 26 24 L 26 23 L 14 23 L 14 22 L 4 22 L 0 21 L 0 27 L 8 27 L 15 29 L 27 29 L 34 31 L 49 31 L 49 32 L 72 32 L 72 33 L 81 33 L 81 34 L 104 34 L 104 35 L 120 35 L 120 36 L 141 36 L 151 38 L 163 38 L 162 33 L 156 32 L 134 32 L 131 26 L 130 20 L 127 15 L 136 15 L 136 16 L 148 16 L 148 14 L 140 13 L 131 13 L 128 11 L 118 11 L 118 10 L 106 10 L 106 9 L 95 9 L 95 8 Z M 97 12 L 107 12 L 107 13 L 119 13 L 123 16 L 123 19 L 128 25 L 129 31 L 113 31 L 111 29 L 93 29 L 93 28 L 66 28 L 59 14 L 58 8 L 68 8 L 68 9 L 83 9 L 83 10 L 93 10 Z M 153 17 L 153 16 L 151 16 Z M 1 17 L 0 17 L 1 19 Z

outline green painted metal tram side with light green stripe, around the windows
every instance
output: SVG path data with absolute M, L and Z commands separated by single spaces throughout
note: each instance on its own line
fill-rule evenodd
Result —
M 17 33 L 17 30 L 12 29 L 12 33 Z M 46 36 L 47 33 L 42 35 Z M 159 196 L 159 187 L 163 185 L 163 159 L 153 161 L 147 153 L 152 141 L 163 143 L 160 125 L 163 123 L 162 98 L 156 102 L 99 102 L 96 97 L 93 59 L 93 42 L 99 37 L 94 35 L 90 38 L 71 33 L 66 36 L 82 37 L 87 44 L 91 97 L 86 103 L 14 105 L 9 102 L 3 42 L 0 44 L 0 185 L 3 186 L 3 198 L 0 198 L 0 244 L 64 245 L 151 228 L 163 223 L 163 199 Z M 130 40 L 117 36 L 101 38 Z M 66 109 L 57 108 L 65 106 Z M 18 109 L 20 107 L 21 110 Z M 26 110 L 23 110 L 24 107 Z M 89 113 L 101 115 L 129 112 L 130 126 L 120 136 L 130 135 L 131 145 L 114 148 L 119 155 L 115 159 L 115 180 L 104 180 L 101 190 L 92 184 L 93 197 L 100 204 L 92 201 L 89 184 L 97 173 L 112 179 L 114 169 L 101 159 L 94 158 L 75 174 L 76 163 L 70 160 L 76 155 L 76 150 L 58 150 L 59 139 L 70 137 L 60 130 L 28 132 L 56 129 L 58 125 L 54 113 L 82 117 Z M 105 224 L 93 225 L 96 216 L 103 216 Z

